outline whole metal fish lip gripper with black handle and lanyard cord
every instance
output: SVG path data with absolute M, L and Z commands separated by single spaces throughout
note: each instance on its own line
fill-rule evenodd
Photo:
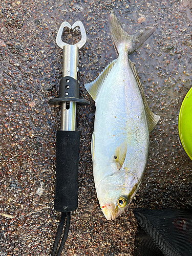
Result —
M 80 28 L 81 40 L 75 45 L 66 44 L 61 40 L 63 28 Z M 63 49 L 62 79 L 59 85 L 59 97 L 49 100 L 51 105 L 60 105 L 61 125 L 56 132 L 56 183 L 54 209 L 62 212 L 51 256 L 56 255 L 57 247 L 66 220 L 66 227 L 57 256 L 62 252 L 70 228 L 70 212 L 78 207 L 78 160 L 80 132 L 76 131 L 76 106 L 89 105 L 86 99 L 80 99 L 78 79 L 79 49 L 86 44 L 87 36 L 83 24 L 78 20 L 71 26 L 63 22 L 57 33 L 57 45 Z

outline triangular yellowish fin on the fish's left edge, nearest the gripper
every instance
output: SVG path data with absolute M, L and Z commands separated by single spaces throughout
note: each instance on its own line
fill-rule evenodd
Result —
M 104 83 L 106 77 L 108 77 L 116 61 L 116 59 L 113 60 L 93 82 L 84 84 L 84 87 L 95 101 L 102 84 Z

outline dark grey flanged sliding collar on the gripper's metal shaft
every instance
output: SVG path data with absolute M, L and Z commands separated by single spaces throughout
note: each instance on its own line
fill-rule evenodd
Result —
M 77 102 L 79 105 L 89 105 L 86 99 L 80 99 L 80 85 L 76 79 L 65 76 L 61 79 L 59 85 L 59 97 L 50 99 L 49 104 L 60 105 L 61 102 Z

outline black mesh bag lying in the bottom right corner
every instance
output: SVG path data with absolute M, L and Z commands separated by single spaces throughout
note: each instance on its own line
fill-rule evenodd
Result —
M 134 256 L 192 256 L 192 210 L 134 209 Z

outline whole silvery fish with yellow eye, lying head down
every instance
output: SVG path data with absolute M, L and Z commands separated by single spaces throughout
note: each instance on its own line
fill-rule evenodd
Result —
M 154 33 L 156 25 L 129 34 L 112 11 L 110 30 L 118 57 L 84 86 L 96 106 L 91 154 L 97 198 L 105 218 L 115 220 L 130 205 L 141 184 L 150 133 L 160 117 L 149 109 L 129 59 Z

